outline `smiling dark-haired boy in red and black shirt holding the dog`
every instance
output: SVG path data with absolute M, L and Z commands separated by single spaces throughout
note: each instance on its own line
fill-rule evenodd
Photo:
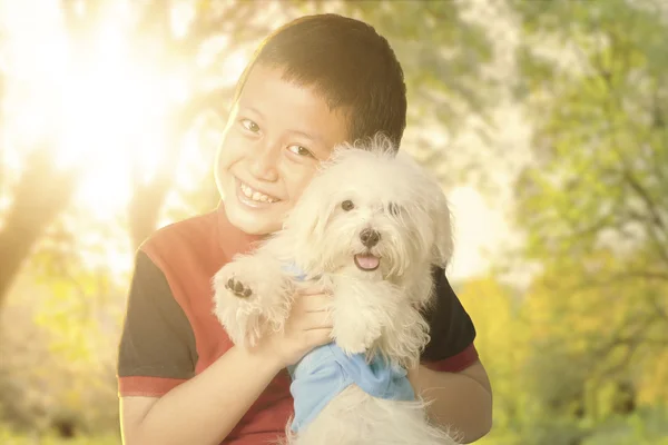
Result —
M 234 255 L 281 228 L 317 164 L 342 141 L 405 128 L 403 72 L 370 26 L 334 14 L 269 36 L 242 76 L 216 159 L 219 208 L 158 230 L 137 254 L 119 352 L 126 444 L 275 439 L 292 412 L 285 367 L 330 342 L 327 296 L 298 295 L 285 333 L 237 348 L 212 314 L 210 279 Z M 410 369 L 430 415 L 466 443 L 491 427 L 491 388 L 475 330 L 434 270 L 432 340 Z

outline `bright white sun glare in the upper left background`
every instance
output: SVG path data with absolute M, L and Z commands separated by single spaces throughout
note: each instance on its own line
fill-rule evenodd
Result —
M 76 202 L 108 219 L 128 202 L 134 170 L 141 182 L 155 176 L 168 113 L 187 101 L 188 79 L 134 53 L 127 2 L 114 3 L 91 40 L 73 46 L 59 2 L 48 4 L 0 8 L 13 73 L 11 139 L 22 151 L 48 140 L 58 168 L 84 171 Z

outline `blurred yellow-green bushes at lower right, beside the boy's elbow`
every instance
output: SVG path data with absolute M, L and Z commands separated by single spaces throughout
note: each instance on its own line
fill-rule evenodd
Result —
M 627 344 L 619 323 L 628 289 L 610 304 L 600 288 L 566 293 L 577 267 L 546 270 L 525 293 L 493 277 L 458 291 L 478 328 L 477 347 L 494 389 L 494 429 L 481 444 L 660 443 L 668 395 L 660 347 Z M 554 287 L 556 281 L 567 281 Z M 657 326 L 655 334 L 660 334 Z M 635 339 L 637 340 L 637 339 Z M 633 340 L 633 342 L 635 342 Z

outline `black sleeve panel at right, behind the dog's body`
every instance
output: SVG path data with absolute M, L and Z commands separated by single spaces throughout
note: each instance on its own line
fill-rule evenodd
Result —
M 435 300 L 424 314 L 430 325 L 431 340 L 422 353 L 422 359 L 428 362 L 455 356 L 475 339 L 473 322 L 450 286 L 445 271 L 435 267 L 433 279 Z

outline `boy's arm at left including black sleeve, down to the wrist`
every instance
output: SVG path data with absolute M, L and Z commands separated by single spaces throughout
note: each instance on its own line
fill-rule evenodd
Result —
M 193 328 L 140 250 L 119 346 L 125 444 L 219 444 L 281 369 L 272 357 L 233 347 L 195 376 Z

